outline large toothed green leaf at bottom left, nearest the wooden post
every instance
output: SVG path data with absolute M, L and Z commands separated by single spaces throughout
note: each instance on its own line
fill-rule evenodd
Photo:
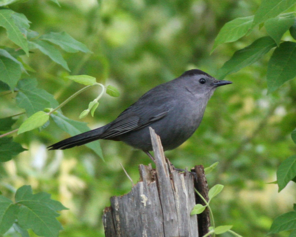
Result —
M 57 221 L 59 214 L 49 206 L 53 200 L 48 193 L 32 193 L 28 185 L 20 187 L 15 194 L 15 201 L 20 206 L 18 223 L 24 229 L 31 228 L 39 236 L 58 236 L 62 225 Z

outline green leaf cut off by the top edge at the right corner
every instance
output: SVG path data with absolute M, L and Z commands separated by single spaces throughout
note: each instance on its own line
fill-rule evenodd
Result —
M 269 18 L 276 17 L 281 12 L 289 9 L 296 0 L 262 0 L 253 21 L 253 26 L 262 23 Z

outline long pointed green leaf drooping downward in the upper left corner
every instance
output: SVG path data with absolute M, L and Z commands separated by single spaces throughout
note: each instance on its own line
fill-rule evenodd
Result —
M 20 46 L 29 56 L 28 41 L 15 24 L 15 20 L 12 18 L 14 13 L 10 9 L 0 9 L 0 26 L 6 29 L 8 38 Z

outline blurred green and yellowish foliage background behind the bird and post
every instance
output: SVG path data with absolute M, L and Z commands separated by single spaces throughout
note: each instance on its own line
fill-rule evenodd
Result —
M 94 118 L 83 119 L 90 128 L 115 119 L 147 90 L 188 69 L 198 68 L 215 76 L 236 50 L 265 35 L 264 29 L 256 29 L 238 42 L 219 46 L 210 55 L 219 29 L 229 20 L 253 15 L 259 0 L 59 3 L 61 7 L 51 1 L 30 0 L 10 7 L 26 15 L 32 30 L 65 31 L 89 47 L 93 53 L 63 54 L 72 75 L 87 74 L 119 89 L 120 97 L 104 96 Z M 1 28 L 0 36 L 4 33 Z M 3 40 L 7 39 L 1 37 Z M 68 72 L 38 51 L 24 61 L 36 71 L 33 75 L 38 86 L 59 103 L 83 87 L 66 80 Z M 263 58 L 227 76 L 233 84 L 216 90 L 199 129 L 180 147 L 166 152 L 178 168 L 220 162 L 207 176 L 210 187 L 225 185 L 212 202 L 216 225 L 233 225 L 244 237 L 265 236 L 274 217 L 292 209 L 295 202 L 294 183 L 277 193 L 277 186 L 267 182 L 276 180 L 278 165 L 295 153 L 290 133 L 296 127 L 296 83 L 289 81 L 267 95 L 266 67 Z M 97 90 L 92 88 L 73 99 L 62 108 L 63 113 L 78 120 Z M 1 117 L 12 115 L 15 109 L 13 95 L 0 97 Z M 30 184 L 35 192 L 49 192 L 70 208 L 59 217 L 65 228 L 60 236 L 104 236 L 102 210 L 109 206 L 112 195 L 131 189 L 119 163 L 136 182 L 138 165 L 150 160 L 143 152 L 115 141 L 101 141 L 105 162 L 85 146 L 65 151 L 46 149 L 68 136 L 53 123 L 41 132 L 35 129 L 15 135 L 15 141 L 28 151 L 0 165 L 0 184 L 5 187 L 1 191 L 12 196 L 16 188 Z

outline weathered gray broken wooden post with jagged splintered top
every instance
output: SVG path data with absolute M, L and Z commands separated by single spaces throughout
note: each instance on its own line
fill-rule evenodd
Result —
M 197 215 L 190 215 L 196 204 L 192 174 L 173 170 L 152 128 L 150 135 L 156 170 L 151 164 L 139 165 L 140 181 L 131 192 L 110 198 L 111 206 L 104 209 L 102 217 L 105 236 L 202 236 L 198 233 Z

